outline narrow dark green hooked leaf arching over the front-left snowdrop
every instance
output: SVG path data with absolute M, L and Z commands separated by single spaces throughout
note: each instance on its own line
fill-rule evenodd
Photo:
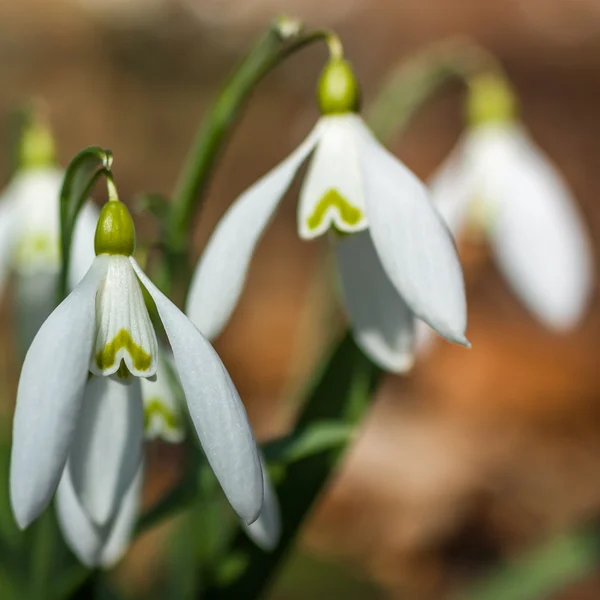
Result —
M 112 152 L 92 146 L 82 150 L 67 167 L 60 191 L 60 299 L 67 294 L 67 276 L 75 222 L 98 178 L 110 171 Z

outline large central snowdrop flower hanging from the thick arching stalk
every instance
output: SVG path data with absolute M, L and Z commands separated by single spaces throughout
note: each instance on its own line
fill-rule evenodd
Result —
M 254 249 L 312 153 L 300 191 L 298 234 L 333 230 L 341 291 L 354 336 L 390 371 L 412 364 L 413 314 L 468 345 L 460 263 L 423 184 L 357 113 L 358 84 L 333 56 L 319 83 L 322 117 L 283 162 L 247 189 L 215 229 L 192 280 L 186 312 L 210 339 L 233 312 Z

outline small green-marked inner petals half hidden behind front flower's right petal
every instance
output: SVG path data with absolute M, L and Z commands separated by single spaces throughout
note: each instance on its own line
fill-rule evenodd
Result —
M 168 354 L 167 354 L 168 353 Z M 181 389 L 177 370 L 170 351 L 161 349 L 154 379 L 142 378 L 144 402 L 144 433 L 147 440 L 161 438 L 177 444 L 185 438 L 183 415 L 177 398 L 176 386 Z

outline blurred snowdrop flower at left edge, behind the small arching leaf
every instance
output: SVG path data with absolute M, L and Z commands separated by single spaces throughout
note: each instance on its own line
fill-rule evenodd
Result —
M 20 168 L 0 195 L 0 293 L 9 274 L 14 273 L 14 306 L 25 350 L 54 308 L 60 269 L 63 172 L 54 166 L 54 143 L 41 123 L 25 130 L 20 155 Z M 69 273 L 72 287 L 94 259 L 92 240 L 97 220 L 98 211 L 88 202 L 75 226 Z

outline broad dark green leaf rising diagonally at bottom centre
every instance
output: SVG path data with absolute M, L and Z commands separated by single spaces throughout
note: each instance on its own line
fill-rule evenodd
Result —
M 342 432 L 347 436 L 346 441 L 351 439 L 352 427 L 359 417 L 356 407 L 360 405 L 364 411 L 368 406 L 379 375 L 380 370 L 358 349 L 352 335 L 346 334 L 321 371 L 298 419 L 297 431 L 310 432 L 313 425 L 316 429 L 299 434 L 298 439 L 302 441 L 296 442 L 295 447 L 299 458 L 288 465 L 276 486 L 282 522 L 279 545 L 271 553 L 265 553 L 240 530 L 229 553 L 236 557 L 238 564 L 246 567 L 240 569 L 233 580 L 231 576 L 217 574 L 203 598 L 251 600 L 263 597 L 265 586 L 287 555 L 304 518 L 337 464 L 345 446 L 340 440 Z M 339 429 L 331 428 L 333 423 L 338 423 Z M 335 441 L 340 443 L 330 443 L 336 436 L 339 437 Z M 322 445 L 322 451 L 316 453 L 315 448 L 319 445 Z

